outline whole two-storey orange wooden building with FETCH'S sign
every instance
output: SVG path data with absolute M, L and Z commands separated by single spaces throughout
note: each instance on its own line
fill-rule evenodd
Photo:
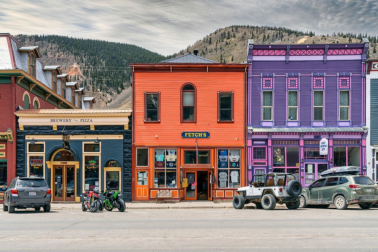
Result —
M 130 64 L 133 201 L 231 200 L 246 184 L 248 65 L 197 53 Z

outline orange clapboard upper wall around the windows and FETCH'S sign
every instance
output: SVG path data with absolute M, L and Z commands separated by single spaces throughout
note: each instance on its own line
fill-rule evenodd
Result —
M 181 87 L 197 89 L 197 122 L 181 123 Z M 198 146 L 243 146 L 244 73 L 235 72 L 135 72 L 135 145 L 195 146 L 195 138 L 181 138 L 181 131 L 209 131 Z M 218 91 L 234 91 L 234 122 L 217 122 Z M 160 93 L 160 123 L 144 122 L 144 92 Z M 158 136 L 157 138 L 155 136 Z M 238 140 L 235 140 L 238 138 Z

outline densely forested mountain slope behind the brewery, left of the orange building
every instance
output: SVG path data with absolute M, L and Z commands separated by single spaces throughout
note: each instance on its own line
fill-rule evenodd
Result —
M 77 39 L 57 35 L 15 36 L 25 46 L 39 46 L 42 60 L 60 65 L 85 88 L 87 96 L 95 96 L 95 107 L 104 107 L 129 87 L 131 62 L 150 63 L 166 59 L 136 45 L 104 40 Z

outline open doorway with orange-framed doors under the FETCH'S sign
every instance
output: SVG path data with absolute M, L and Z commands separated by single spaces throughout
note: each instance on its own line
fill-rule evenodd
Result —
M 185 171 L 185 200 L 212 200 L 212 171 Z

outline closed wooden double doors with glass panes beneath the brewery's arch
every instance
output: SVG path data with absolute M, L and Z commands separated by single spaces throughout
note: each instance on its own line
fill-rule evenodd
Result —
M 53 165 L 54 201 L 75 201 L 75 172 L 74 165 Z

